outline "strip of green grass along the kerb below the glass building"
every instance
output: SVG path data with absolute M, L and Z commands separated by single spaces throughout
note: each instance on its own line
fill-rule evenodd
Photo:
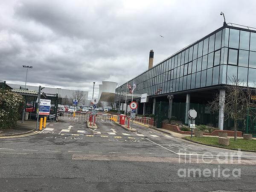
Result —
M 244 151 L 255 151 L 256 152 L 256 140 L 244 140 L 230 138 L 230 145 L 224 146 L 218 144 L 218 137 L 184 137 L 184 139 L 189 141 L 194 141 L 196 143 L 212 145 L 216 147 L 229 148 L 229 149 L 241 149 Z

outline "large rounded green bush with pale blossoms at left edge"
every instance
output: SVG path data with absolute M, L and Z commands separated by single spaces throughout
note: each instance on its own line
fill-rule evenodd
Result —
M 17 125 L 23 105 L 23 96 L 0 89 L 0 129 L 13 128 Z

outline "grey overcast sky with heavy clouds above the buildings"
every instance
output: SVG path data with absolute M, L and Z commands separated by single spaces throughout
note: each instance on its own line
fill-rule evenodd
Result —
M 1 0 L 0 79 L 89 91 L 123 84 L 226 21 L 256 27 L 255 0 Z M 163 35 L 164 38 L 161 38 Z

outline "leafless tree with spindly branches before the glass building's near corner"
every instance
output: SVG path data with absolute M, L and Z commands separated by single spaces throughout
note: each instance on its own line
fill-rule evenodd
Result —
M 233 119 L 236 140 L 238 121 L 246 122 L 248 108 L 256 107 L 251 96 L 255 95 L 255 88 L 246 87 L 244 82 L 237 80 L 236 76 L 228 77 L 229 85 L 225 86 L 225 95 L 217 94 L 209 107 L 212 112 L 224 111 L 224 119 Z M 255 86 L 254 86 L 255 87 Z

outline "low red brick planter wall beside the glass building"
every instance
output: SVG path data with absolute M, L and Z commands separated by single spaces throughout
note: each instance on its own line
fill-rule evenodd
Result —
M 170 124 L 162 123 L 162 128 L 169 130 L 169 131 L 174 131 L 174 132 L 180 133 L 180 134 L 188 134 L 188 135 L 191 134 L 190 131 L 180 131 L 180 128 L 177 125 L 170 125 Z M 227 133 L 228 137 L 234 137 L 234 135 L 235 135 L 234 131 L 226 131 L 226 130 L 214 130 L 214 131 L 212 131 L 212 133 L 204 133 L 204 135 L 218 136 L 219 131 L 223 131 L 223 132 Z M 236 131 L 236 135 L 237 135 L 237 137 L 242 137 L 242 132 Z

